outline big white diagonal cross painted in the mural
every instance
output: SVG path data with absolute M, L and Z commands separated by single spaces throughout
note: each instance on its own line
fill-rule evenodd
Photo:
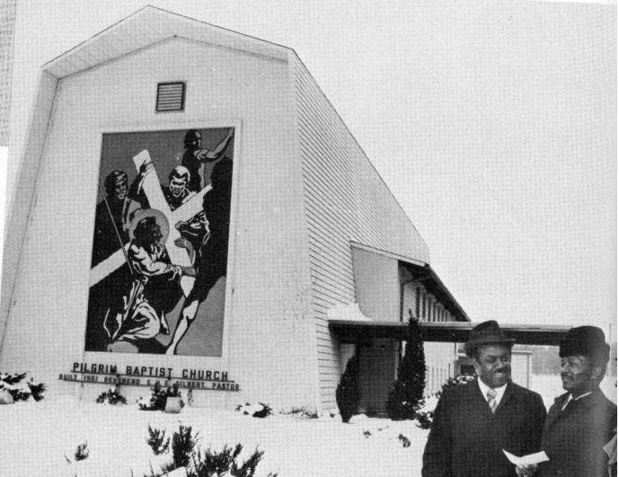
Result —
M 142 151 L 140 154 L 136 155 L 133 158 L 133 162 L 136 164 L 136 169 L 139 172 L 140 166 L 145 163 L 150 163 L 150 155 L 148 151 Z M 181 234 L 176 227 L 174 226 L 177 222 L 189 220 L 192 216 L 195 216 L 202 210 L 202 200 L 204 199 L 205 194 L 208 190 L 211 190 L 212 187 L 208 185 L 204 189 L 200 190 L 197 194 L 193 195 L 187 202 L 181 205 L 180 208 L 176 208 L 174 210 L 170 209 L 167 200 L 164 198 L 164 193 L 161 190 L 161 184 L 159 182 L 159 178 L 157 177 L 157 173 L 155 169 L 152 172 L 146 174 L 146 178 L 142 184 L 142 189 L 146 194 L 146 199 L 148 199 L 148 204 L 150 208 L 156 208 L 160 210 L 165 218 L 168 219 L 168 224 L 170 225 L 170 233 L 168 234 L 168 238 L 165 241 L 165 250 L 168 252 L 170 256 L 170 261 L 174 265 L 181 265 L 183 267 L 190 267 L 190 255 L 187 252 L 187 249 L 179 247 L 174 241 L 181 237 Z M 125 250 L 128 250 L 129 244 L 125 245 Z M 119 269 L 122 265 L 125 264 L 125 254 L 122 250 L 117 250 L 112 253 L 110 257 L 106 260 L 99 263 L 96 267 L 94 267 L 90 272 L 90 286 L 96 285 L 103 278 L 106 278 L 111 272 Z M 183 275 L 181 277 L 181 288 L 182 292 L 185 296 L 188 296 L 191 288 L 193 288 L 193 283 L 195 278 L 188 277 Z

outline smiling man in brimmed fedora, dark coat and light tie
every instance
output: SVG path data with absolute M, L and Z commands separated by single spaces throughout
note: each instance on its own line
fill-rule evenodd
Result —
M 511 382 L 511 348 L 495 321 L 475 326 L 464 344 L 477 379 L 438 400 L 423 453 L 424 476 L 513 476 L 514 455 L 538 452 L 546 410 L 542 397 Z

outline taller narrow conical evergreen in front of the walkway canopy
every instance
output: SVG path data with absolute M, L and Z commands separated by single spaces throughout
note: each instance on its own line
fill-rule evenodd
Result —
M 398 367 L 398 378 L 387 398 L 387 415 L 392 420 L 414 420 L 426 385 L 426 358 L 419 321 L 409 318 L 408 340 Z

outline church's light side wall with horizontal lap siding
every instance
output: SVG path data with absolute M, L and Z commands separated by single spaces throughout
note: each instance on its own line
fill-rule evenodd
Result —
M 293 57 L 299 150 L 303 163 L 319 407 L 332 409 L 340 380 L 339 347 L 327 312 L 355 301 L 350 241 L 418 261 L 428 248 L 301 61 Z

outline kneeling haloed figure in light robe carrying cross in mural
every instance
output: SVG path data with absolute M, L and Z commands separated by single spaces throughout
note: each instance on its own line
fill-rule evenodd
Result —
M 110 309 L 104 327 L 112 342 L 128 341 L 140 349 L 157 334 L 169 334 L 165 314 L 178 303 L 181 275 L 192 271 L 170 263 L 164 247 L 167 221 L 160 211 L 142 211 L 134 225 L 127 253 L 133 281 L 122 309 Z

